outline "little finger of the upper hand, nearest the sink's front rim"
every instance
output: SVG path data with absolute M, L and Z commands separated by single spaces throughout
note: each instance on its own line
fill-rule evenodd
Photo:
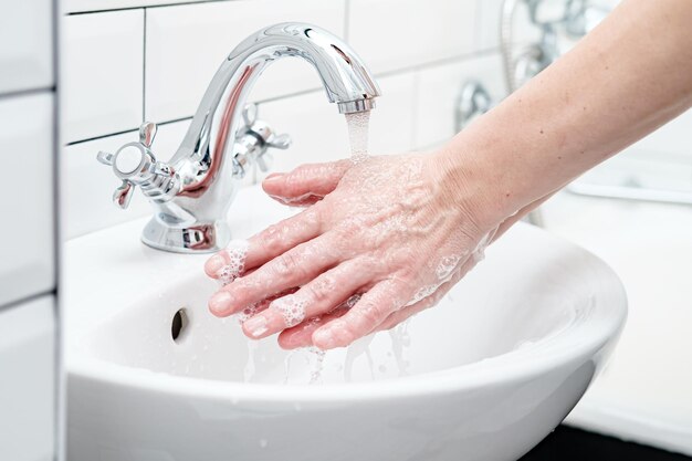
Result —
M 313 344 L 321 349 L 348 346 L 370 334 L 400 305 L 399 297 L 406 286 L 395 281 L 384 281 L 365 293 L 343 317 L 334 319 L 313 334 Z

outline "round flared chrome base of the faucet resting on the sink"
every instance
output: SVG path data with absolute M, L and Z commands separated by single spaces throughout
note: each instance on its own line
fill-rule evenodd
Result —
M 171 228 L 154 217 L 141 232 L 146 245 L 172 253 L 213 253 L 224 249 L 230 240 L 231 230 L 226 221 Z

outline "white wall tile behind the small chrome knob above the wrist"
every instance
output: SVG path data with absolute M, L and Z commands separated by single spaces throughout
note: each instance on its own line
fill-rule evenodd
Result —
M 480 82 L 494 104 L 500 103 L 505 96 L 502 75 L 499 53 L 420 70 L 416 105 L 416 146 L 439 144 L 457 134 L 455 108 L 466 82 Z

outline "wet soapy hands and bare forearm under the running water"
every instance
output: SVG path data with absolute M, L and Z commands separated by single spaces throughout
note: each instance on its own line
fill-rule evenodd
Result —
M 438 151 L 272 175 L 270 196 L 307 208 L 249 240 L 245 274 L 211 297 L 211 312 L 231 315 L 286 292 L 244 333 L 329 349 L 434 305 L 485 244 L 692 106 L 690 24 L 690 0 L 626 0 Z M 218 253 L 207 273 L 218 277 L 228 260 Z M 289 307 L 301 315 L 286 317 Z

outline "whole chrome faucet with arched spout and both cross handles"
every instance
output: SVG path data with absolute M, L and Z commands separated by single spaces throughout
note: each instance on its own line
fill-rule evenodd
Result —
M 242 41 L 223 61 L 197 108 L 182 144 L 168 163 L 151 151 L 156 125 L 145 123 L 139 140 L 115 154 L 98 153 L 123 184 L 113 199 L 126 208 L 139 186 L 156 213 L 145 227 L 145 244 L 178 253 L 213 252 L 231 239 L 229 207 L 252 164 L 266 169 L 271 147 L 285 149 L 256 118 L 248 94 L 262 71 L 286 56 L 303 57 L 316 70 L 327 98 L 342 114 L 370 111 L 380 92 L 356 53 L 329 32 L 304 23 L 268 27 Z

